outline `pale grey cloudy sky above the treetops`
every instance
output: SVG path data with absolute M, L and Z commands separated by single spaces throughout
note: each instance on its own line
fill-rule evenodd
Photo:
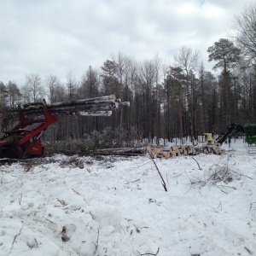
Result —
M 159 55 L 172 64 L 184 45 L 207 49 L 227 38 L 235 13 L 249 0 L 8 0 L 0 3 L 0 81 L 26 74 L 77 80 L 121 52 L 137 61 Z

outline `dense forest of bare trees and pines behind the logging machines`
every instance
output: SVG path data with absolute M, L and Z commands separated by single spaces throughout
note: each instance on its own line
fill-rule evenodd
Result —
M 245 6 L 233 25 L 228 38 L 219 38 L 207 49 L 218 75 L 205 70 L 199 50 L 182 46 L 172 65 L 159 55 L 137 61 L 119 52 L 101 67 L 88 67 L 79 80 L 68 72 L 65 83 L 54 74 L 43 79 L 38 73 L 26 74 L 20 87 L 11 78 L 8 84 L 0 82 L 1 129 L 11 125 L 6 113 L 19 103 L 46 98 L 51 104 L 108 95 L 131 106 L 119 108 L 111 117 L 63 115 L 44 139 L 95 136 L 128 142 L 189 137 L 193 142 L 204 132 L 219 134 L 230 123 L 256 123 L 255 4 Z

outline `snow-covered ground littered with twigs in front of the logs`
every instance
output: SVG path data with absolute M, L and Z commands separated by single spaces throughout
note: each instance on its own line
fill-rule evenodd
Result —
M 256 159 L 225 154 L 155 162 L 83 157 L 0 166 L 0 255 L 256 254 Z

